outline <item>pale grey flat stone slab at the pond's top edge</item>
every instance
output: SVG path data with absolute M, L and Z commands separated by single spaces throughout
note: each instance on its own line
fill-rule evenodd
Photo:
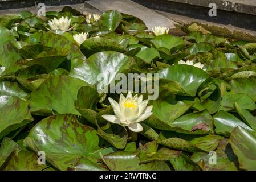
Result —
M 149 30 L 155 26 L 175 28 L 175 23 L 172 20 L 130 0 L 91 0 L 85 2 L 85 7 L 88 5 L 95 7 L 101 12 L 118 10 L 121 13 L 136 16 L 145 22 Z

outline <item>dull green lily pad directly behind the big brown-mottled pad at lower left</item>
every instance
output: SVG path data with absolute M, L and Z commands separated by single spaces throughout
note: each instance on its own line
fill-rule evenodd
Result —
M 38 89 L 31 92 L 28 98 L 30 111 L 39 115 L 49 115 L 53 111 L 80 115 L 74 102 L 78 90 L 85 85 L 86 82 L 69 76 L 47 78 Z

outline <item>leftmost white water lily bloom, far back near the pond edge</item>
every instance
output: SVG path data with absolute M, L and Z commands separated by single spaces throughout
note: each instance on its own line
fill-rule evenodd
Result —
M 63 31 L 70 31 L 72 28 L 70 28 L 71 18 L 68 19 L 67 17 L 63 17 L 60 19 L 54 18 L 48 22 L 48 25 L 50 26 L 51 30 L 63 30 Z

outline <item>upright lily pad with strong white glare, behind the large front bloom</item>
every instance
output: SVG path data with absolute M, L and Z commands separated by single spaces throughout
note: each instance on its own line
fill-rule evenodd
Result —
M 99 83 L 97 89 L 104 89 L 115 80 L 117 73 L 129 69 L 133 64 L 133 58 L 123 53 L 114 51 L 98 52 L 72 69 L 70 76 L 84 80 L 90 85 Z

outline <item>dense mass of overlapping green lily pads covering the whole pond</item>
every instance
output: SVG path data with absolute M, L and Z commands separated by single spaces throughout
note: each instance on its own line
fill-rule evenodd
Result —
M 0 16 L 0 169 L 256 170 L 256 43 L 181 29 L 68 6 Z M 118 73 L 159 74 L 139 133 L 102 117 L 120 94 L 97 92 L 97 76 Z

